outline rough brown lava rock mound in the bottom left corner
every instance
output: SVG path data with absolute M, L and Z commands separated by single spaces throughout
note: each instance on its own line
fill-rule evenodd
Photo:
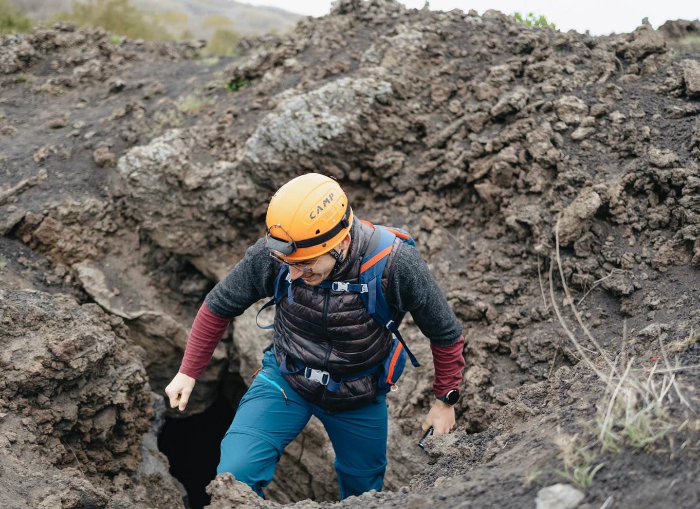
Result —
M 4 507 L 182 507 L 165 456 L 151 448 L 141 467 L 153 400 L 121 319 L 66 296 L 0 290 L 0 346 Z

